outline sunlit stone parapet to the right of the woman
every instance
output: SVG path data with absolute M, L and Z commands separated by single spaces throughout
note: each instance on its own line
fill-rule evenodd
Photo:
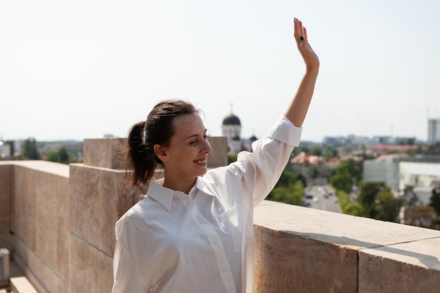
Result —
M 265 201 L 254 232 L 254 292 L 439 292 L 439 230 Z

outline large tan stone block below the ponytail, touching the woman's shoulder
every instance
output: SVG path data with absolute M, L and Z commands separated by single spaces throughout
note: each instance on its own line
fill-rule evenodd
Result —
M 70 165 L 72 233 L 111 256 L 115 222 L 134 204 L 134 192 L 124 183 L 124 171 Z

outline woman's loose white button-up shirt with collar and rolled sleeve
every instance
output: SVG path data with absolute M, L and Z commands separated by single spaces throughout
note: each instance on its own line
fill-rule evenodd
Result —
M 301 131 L 281 117 L 252 152 L 198 177 L 189 195 L 152 182 L 115 225 L 112 293 L 251 293 L 253 209 Z

